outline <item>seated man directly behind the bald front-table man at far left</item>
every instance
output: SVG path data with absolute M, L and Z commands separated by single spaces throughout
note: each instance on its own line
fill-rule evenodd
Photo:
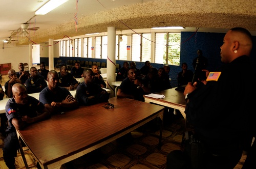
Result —
M 10 78 L 10 80 L 8 80 L 6 83 L 5 83 L 5 95 L 9 98 L 12 97 L 12 86 L 15 84 L 15 83 L 20 83 L 20 84 L 23 84 L 22 80 L 20 80 L 18 77 L 17 77 L 17 73 L 15 72 L 14 69 L 11 69 L 8 71 L 8 77 Z

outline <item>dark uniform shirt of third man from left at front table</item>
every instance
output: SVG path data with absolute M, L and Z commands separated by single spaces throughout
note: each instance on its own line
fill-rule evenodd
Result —
M 109 100 L 108 92 L 101 94 L 104 91 L 98 84 L 92 83 L 87 85 L 84 81 L 78 85 L 76 89 L 76 99 L 79 105 L 92 105 L 100 102 L 105 102 Z M 94 96 L 92 99 L 88 97 Z

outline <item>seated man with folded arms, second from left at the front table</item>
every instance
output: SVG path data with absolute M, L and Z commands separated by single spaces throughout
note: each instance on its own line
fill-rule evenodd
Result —
M 67 109 L 77 108 L 78 102 L 66 88 L 58 87 L 59 76 L 55 70 L 51 70 L 47 76 L 48 87 L 39 94 L 39 101 L 53 113 L 63 112 Z

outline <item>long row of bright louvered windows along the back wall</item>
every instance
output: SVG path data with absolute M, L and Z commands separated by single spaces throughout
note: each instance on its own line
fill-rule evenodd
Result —
M 152 41 L 152 36 L 155 36 L 153 38 L 155 42 Z M 132 61 L 180 65 L 180 33 L 132 34 L 131 44 L 128 44 L 128 36 L 123 35 L 121 42 L 119 38 L 120 35 L 117 35 L 116 60 L 127 60 L 127 45 L 129 45 L 131 46 Z M 92 37 L 83 38 L 83 44 L 81 44 L 81 38 L 73 41 L 74 48 L 71 40 L 60 42 L 62 57 L 73 57 L 74 52 L 74 57 L 92 58 L 92 51 L 95 52 L 95 58 L 107 59 L 108 57 L 108 36 L 95 37 L 95 45 L 92 44 Z M 153 44 L 154 46 L 152 46 Z M 92 46 L 95 46 L 94 50 L 92 50 Z M 155 47 L 155 50 L 152 50 L 152 47 Z M 152 51 L 155 52 L 152 53 Z

